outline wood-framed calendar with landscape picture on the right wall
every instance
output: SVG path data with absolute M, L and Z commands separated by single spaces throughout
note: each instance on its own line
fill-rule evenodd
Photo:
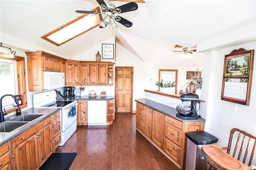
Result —
M 221 100 L 249 105 L 254 50 L 244 48 L 225 55 Z

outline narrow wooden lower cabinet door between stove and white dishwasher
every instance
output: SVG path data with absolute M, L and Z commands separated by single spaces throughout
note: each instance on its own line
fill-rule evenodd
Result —
M 87 101 L 79 100 L 77 105 L 77 125 L 88 125 L 87 121 Z

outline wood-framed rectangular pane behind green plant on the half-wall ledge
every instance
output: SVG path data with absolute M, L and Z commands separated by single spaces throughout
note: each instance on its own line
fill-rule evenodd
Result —
M 165 92 L 170 94 L 177 94 L 177 84 L 178 84 L 178 70 L 177 69 L 159 69 L 159 77 L 158 81 L 160 82 L 163 80 L 164 83 L 166 82 L 175 82 L 175 87 L 166 88 Z M 161 91 L 161 89 L 158 89 Z

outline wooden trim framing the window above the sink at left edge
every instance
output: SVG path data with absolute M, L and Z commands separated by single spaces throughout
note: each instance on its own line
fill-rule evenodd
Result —
M 1 53 L 0 58 L 15 60 L 17 64 L 17 83 L 18 83 L 18 94 L 22 96 L 21 109 L 27 107 L 27 88 L 26 88 L 26 67 L 25 58 L 20 56 L 14 56 L 14 58 L 4 57 L 5 54 Z M 15 111 L 15 107 L 6 110 L 6 113 L 12 113 Z

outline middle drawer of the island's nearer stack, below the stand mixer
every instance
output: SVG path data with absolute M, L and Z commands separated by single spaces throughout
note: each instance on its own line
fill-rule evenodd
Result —
M 164 123 L 164 136 L 181 147 L 182 145 L 182 131 L 174 126 Z

